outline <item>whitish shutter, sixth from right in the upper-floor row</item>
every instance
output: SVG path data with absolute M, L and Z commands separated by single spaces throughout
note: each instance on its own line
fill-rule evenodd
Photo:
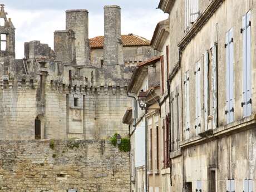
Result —
M 189 139 L 190 132 L 190 112 L 189 112 L 189 71 L 185 73 L 184 77 L 184 88 L 185 88 L 185 139 Z

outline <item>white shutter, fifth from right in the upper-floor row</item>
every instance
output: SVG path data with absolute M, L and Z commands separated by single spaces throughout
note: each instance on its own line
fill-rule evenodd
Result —
M 200 62 L 195 66 L 195 129 L 196 135 L 201 132 L 201 72 Z

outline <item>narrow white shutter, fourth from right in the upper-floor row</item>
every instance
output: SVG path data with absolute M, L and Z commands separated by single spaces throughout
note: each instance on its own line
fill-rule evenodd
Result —
M 208 130 L 209 52 L 204 53 L 204 130 Z

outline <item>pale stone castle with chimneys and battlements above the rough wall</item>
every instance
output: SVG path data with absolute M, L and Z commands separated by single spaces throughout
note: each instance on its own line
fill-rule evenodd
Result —
M 121 8 L 105 6 L 104 37 L 88 38 L 88 11 L 66 11 L 55 31 L 54 51 L 24 43 L 15 58 L 15 28 L 2 6 L 0 18 L 0 140 L 104 139 L 128 134 L 122 115 L 132 68 L 155 55 L 150 42 L 121 36 Z M 6 45 L 6 47 L 4 47 Z

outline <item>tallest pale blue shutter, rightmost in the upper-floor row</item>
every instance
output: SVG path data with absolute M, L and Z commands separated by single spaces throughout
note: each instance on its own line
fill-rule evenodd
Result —
M 252 45 L 251 11 L 243 16 L 243 116 L 252 114 Z

